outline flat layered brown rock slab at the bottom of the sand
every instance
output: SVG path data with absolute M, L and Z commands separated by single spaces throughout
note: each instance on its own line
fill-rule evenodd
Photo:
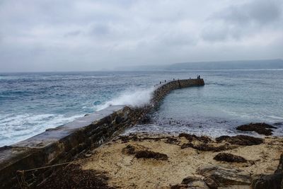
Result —
M 250 185 L 250 173 L 232 167 L 204 166 L 197 173 L 212 179 L 218 187 L 228 185 Z

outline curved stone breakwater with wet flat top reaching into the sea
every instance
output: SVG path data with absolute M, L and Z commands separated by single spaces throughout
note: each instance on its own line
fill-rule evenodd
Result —
M 50 176 L 54 169 L 40 168 L 72 161 L 88 149 L 95 148 L 127 127 L 142 122 L 166 96 L 177 88 L 203 86 L 203 79 L 183 79 L 165 82 L 156 87 L 151 102 L 142 108 L 115 105 L 86 115 L 54 129 L 0 148 L 0 188 L 19 188 L 18 179 L 23 179 L 33 188 Z M 40 169 L 38 169 L 40 168 Z M 21 170 L 33 170 L 24 175 Z M 17 172 L 18 171 L 18 172 Z M 17 177 L 18 176 L 18 177 Z M 23 182 L 22 182 L 23 183 Z

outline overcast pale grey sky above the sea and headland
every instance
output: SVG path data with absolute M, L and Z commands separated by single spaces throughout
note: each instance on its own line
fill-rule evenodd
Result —
M 0 0 L 0 72 L 278 58 L 282 0 Z

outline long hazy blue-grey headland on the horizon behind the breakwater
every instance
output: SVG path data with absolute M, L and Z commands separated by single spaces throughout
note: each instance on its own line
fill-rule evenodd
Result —
M 282 59 L 183 62 L 167 65 L 120 67 L 120 70 L 283 69 Z

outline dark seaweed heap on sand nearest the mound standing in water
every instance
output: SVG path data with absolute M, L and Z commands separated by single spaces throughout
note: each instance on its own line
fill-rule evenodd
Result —
M 226 141 L 226 142 L 229 142 L 230 144 L 238 144 L 238 145 L 243 145 L 243 146 L 258 145 L 264 142 L 264 140 L 261 138 L 250 137 L 247 135 L 236 135 L 233 137 L 224 135 L 221 137 L 216 137 L 215 140 L 216 142 Z

